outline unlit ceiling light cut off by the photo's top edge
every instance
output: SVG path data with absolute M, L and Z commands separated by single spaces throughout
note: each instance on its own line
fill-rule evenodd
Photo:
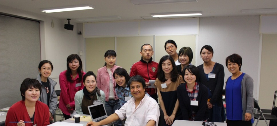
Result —
M 131 0 L 134 5 L 197 2 L 197 0 Z

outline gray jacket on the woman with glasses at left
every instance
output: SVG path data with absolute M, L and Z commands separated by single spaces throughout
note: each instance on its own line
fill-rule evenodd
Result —
M 39 97 L 39 101 L 47 104 L 47 93 L 46 93 L 46 89 L 44 88 L 44 86 L 41 83 L 41 77 L 40 74 L 37 76 L 36 78 L 40 85 L 41 85 L 41 95 Z M 50 85 L 50 99 L 49 99 L 49 111 L 50 113 L 52 113 L 52 116 L 54 115 L 56 108 L 57 108 L 57 104 L 58 104 L 58 97 L 57 94 L 55 92 L 55 85 L 57 84 L 57 82 L 55 82 L 54 80 L 52 80 L 51 78 L 48 77 L 48 81 L 49 81 L 49 85 Z

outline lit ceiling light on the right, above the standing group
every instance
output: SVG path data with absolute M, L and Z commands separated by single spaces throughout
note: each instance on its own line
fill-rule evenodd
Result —
M 173 12 L 173 13 L 151 13 L 153 17 L 167 17 L 167 16 L 197 16 L 202 15 L 201 11 L 193 12 Z

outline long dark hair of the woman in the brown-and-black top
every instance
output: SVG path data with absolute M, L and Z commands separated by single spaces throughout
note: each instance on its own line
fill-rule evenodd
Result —
M 165 75 L 164 75 L 163 68 L 162 68 L 162 64 L 166 60 L 171 61 L 171 65 L 172 65 L 173 69 L 170 72 L 171 73 L 171 76 L 170 76 L 171 79 L 170 80 L 175 82 L 178 78 L 178 72 L 177 72 L 177 69 L 176 69 L 175 62 L 174 62 L 173 58 L 170 55 L 165 55 L 160 59 L 159 66 L 158 66 L 157 77 L 161 82 L 167 81 L 167 79 L 165 79 Z

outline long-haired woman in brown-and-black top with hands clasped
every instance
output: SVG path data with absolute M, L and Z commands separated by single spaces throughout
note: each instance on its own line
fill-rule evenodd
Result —
M 164 125 L 172 125 L 174 120 L 182 119 L 177 99 L 177 87 L 184 83 L 182 76 L 177 73 L 176 65 L 170 55 L 160 59 L 155 85 L 164 113 Z

